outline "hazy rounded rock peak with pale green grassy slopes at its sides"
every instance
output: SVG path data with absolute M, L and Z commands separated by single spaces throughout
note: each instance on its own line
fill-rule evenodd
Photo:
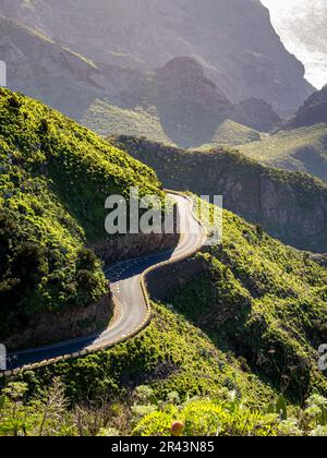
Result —
M 174 58 L 156 72 L 144 74 L 143 84 L 130 97 L 130 103 L 125 98 L 120 107 L 114 107 L 110 98 L 95 100 L 82 118 L 83 123 L 102 135 L 133 134 L 189 148 L 218 143 L 220 138 L 232 144 L 258 140 L 253 129 L 267 132 L 280 122 L 264 100 L 231 104 L 205 76 L 203 67 L 186 57 Z M 231 120 L 241 120 L 245 125 Z

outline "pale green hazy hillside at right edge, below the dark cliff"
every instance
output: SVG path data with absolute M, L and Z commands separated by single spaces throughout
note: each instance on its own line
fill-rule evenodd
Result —
M 238 149 L 268 166 L 305 171 L 327 180 L 327 125 L 315 124 L 240 144 Z

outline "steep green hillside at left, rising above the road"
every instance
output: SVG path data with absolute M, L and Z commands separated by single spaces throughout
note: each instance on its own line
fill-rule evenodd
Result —
M 96 302 L 107 285 L 86 250 L 105 237 L 105 200 L 161 193 L 155 173 L 87 129 L 0 93 L 0 337 L 40 311 Z

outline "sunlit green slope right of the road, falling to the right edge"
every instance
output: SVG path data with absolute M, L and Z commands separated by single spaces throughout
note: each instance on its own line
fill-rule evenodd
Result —
M 171 298 L 174 309 L 292 399 L 314 387 L 326 395 L 317 352 L 327 340 L 326 268 L 229 212 L 223 243 L 198 256 L 205 272 Z

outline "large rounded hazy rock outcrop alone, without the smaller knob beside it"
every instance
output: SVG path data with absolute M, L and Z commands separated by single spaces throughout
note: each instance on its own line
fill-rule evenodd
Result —
M 205 76 L 203 67 L 191 58 L 175 58 L 158 69 L 153 91 L 164 131 L 183 147 L 206 143 L 233 110 Z

